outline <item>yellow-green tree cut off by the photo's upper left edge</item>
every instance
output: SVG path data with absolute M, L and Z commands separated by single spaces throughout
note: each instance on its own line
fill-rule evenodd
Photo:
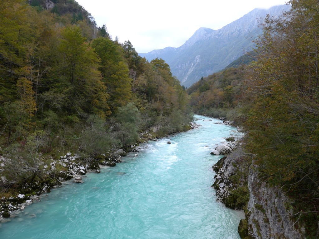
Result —
M 27 60 L 28 46 L 37 40 L 36 12 L 23 0 L 0 2 L 0 103 L 15 98 L 17 69 Z

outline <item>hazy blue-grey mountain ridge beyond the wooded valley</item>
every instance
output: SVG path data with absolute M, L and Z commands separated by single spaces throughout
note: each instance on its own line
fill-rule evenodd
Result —
M 140 53 L 147 60 L 159 57 L 165 60 L 181 84 L 189 87 L 201 76 L 208 76 L 224 69 L 231 62 L 254 46 L 252 40 L 261 33 L 260 19 L 279 16 L 289 9 L 288 5 L 270 9 L 254 9 L 243 17 L 220 28 L 212 30 L 201 27 L 181 47 L 166 47 L 149 53 Z

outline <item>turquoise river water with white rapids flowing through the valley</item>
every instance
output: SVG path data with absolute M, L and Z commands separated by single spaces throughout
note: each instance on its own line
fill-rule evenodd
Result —
M 69 181 L 41 195 L 0 223 L 0 238 L 239 239 L 244 214 L 216 201 L 211 166 L 222 156 L 210 155 L 236 128 L 196 117 L 199 129 L 149 141 L 138 156 L 88 173 L 83 184 Z

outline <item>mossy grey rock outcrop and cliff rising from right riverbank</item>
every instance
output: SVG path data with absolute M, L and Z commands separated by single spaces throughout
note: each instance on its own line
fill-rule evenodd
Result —
M 212 186 L 218 200 L 227 207 L 245 210 L 246 219 L 238 227 L 241 238 L 306 238 L 303 226 L 291 218 L 292 206 L 285 193 L 258 177 L 252 159 L 241 148 L 221 158 L 213 170 L 216 181 Z

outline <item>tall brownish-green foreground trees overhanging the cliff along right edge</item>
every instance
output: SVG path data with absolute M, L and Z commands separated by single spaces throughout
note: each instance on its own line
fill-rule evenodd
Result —
M 290 1 L 282 18 L 265 19 L 257 61 L 247 72 L 246 148 L 259 175 L 292 197 L 309 238 L 319 235 L 317 1 Z M 294 218 L 293 220 L 298 220 Z

